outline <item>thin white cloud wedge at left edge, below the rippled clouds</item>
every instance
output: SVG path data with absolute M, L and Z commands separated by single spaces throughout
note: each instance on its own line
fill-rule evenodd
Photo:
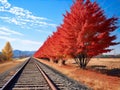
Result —
M 20 32 L 10 30 L 6 27 L 0 27 L 0 35 L 23 35 Z

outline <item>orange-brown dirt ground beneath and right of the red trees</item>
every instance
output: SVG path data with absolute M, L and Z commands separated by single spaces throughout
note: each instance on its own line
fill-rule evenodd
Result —
M 39 60 L 67 75 L 68 77 L 89 86 L 93 90 L 120 90 L 120 77 L 108 76 L 106 74 L 101 74 L 91 70 L 82 70 L 74 64 L 73 60 L 67 61 L 67 65 L 64 66 L 59 66 L 56 63 L 46 60 Z M 88 64 L 88 67 L 92 66 L 101 66 L 106 69 L 120 69 L 120 59 L 94 58 Z

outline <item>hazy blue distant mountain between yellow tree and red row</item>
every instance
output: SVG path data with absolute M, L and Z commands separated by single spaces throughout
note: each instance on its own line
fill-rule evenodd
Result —
M 14 50 L 14 58 L 22 58 L 22 57 L 28 57 L 32 56 L 35 53 L 35 51 L 21 51 L 21 50 Z

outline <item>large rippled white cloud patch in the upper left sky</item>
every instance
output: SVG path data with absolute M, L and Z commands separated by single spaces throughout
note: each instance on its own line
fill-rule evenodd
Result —
M 44 17 L 34 16 L 32 12 L 20 7 L 12 6 L 7 0 L 0 0 L 0 12 L 7 13 L 7 16 L 0 15 L 5 22 L 14 23 L 21 27 L 56 27 L 56 24 L 48 23 Z M 9 15 L 10 14 L 10 15 Z

